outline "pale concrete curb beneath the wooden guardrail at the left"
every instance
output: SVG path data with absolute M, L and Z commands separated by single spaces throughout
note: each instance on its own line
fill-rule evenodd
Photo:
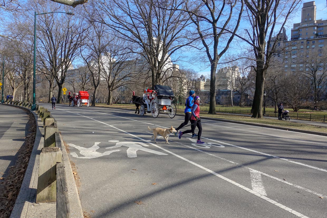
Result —
M 10 105 L 10 104 L 5 104 Z M 10 105 L 11 106 L 11 105 Z M 12 105 L 19 108 L 26 108 L 18 105 Z M 28 108 L 26 108 L 28 109 Z M 34 141 L 34 146 L 22 186 L 20 188 L 19 194 L 17 196 L 14 208 L 11 212 L 10 218 L 27 218 L 27 217 L 55 217 L 56 215 L 56 203 L 35 203 L 36 202 L 36 192 L 37 192 L 37 183 L 38 183 L 38 169 L 39 169 L 39 154 L 42 148 L 42 138 L 43 134 L 41 133 L 41 127 L 39 126 L 38 116 L 35 112 L 28 109 L 35 118 L 36 121 L 36 136 Z M 83 210 L 80 203 L 75 179 L 73 176 L 73 170 L 70 165 L 68 154 L 64 147 L 62 138 L 60 136 L 61 143 L 63 145 L 62 155 L 65 165 L 65 173 L 67 177 L 67 187 L 68 187 L 68 198 L 69 198 L 69 207 L 70 207 L 70 217 L 71 218 L 83 218 Z M 51 216 L 53 214 L 54 216 Z

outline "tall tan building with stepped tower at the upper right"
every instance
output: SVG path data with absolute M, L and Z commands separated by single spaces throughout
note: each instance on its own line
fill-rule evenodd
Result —
M 313 59 L 313 55 L 327 55 L 327 19 L 316 20 L 315 1 L 303 3 L 301 22 L 293 24 L 291 40 L 284 37 L 277 40 L 278 51 L 275 59 L 279 61 L 285 73 L 308 70 L 308 58 Z

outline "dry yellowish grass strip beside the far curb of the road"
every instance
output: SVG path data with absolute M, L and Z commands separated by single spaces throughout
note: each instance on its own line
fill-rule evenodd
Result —
M 126 108 L 126 109 L 134 109 L 135 110 L 135 105 L 132 105 L 132 104 L 115 104 L 115 105 L 96 104 L 96 106 Z M 201 106 L 201 111 L 202 111 L 202 107 L 203 106 Z M 177 110 L 177 113 L 184 114 L 183 106 L 179 106 L 179 108 L 180 109 Z M 232 108 L 232 107 L 228 107 L 228 108 Z M 236 109 L 236 108 L 237 107 L 234 107 L 234 109 Z M 238 107 L 238 108 L 240 108 L 240 107 Z M 208 118 L 235 120 L 235 121 L 242 121 L 242 122 L 248 122 L 248 123 L 266 124 L 266 125 L 273 126 L 273 127 L 284 127 L 284 128 L 291 128 L 291 129 L 301 129 L 301 130 L 327 133 L 327 128 L 325 128 L 325 127 L 319 127 L 319 126 L 313 126 L 313 125 L 307 125 L 307 124 L 301 124 L 301 123 L 294 123 L 294 122 L 285 121 L 285 120 L 281 121 L 281 120 L 266 119 L 266 118 L 258 119 L 258 118 L 251 118 L 251 117 L 247 117 L 247 116 L 239 116 L 239 115 L 234 115 L 234 114 L 208 114 L 206 112 L 203 112 L 203 113 L 201 112 L 200 116 L 202 118 L 208 117 Z

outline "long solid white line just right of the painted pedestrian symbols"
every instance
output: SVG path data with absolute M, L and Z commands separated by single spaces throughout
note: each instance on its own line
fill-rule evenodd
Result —
M 67 112 L 69 112 L 69 113 L 73 113 L 73 114 L 76 114 L 76 115 L 79 115 L 79 116 L 82 116 L 82 117 L 85 117 L 85 118 L 89 118 L 89 117 L 87 117 L 87 116 L 80 115 L 80 114 L 77 114 L 77 113 L 74 113 L 74 112 L 70 112 L 70 111 L 67 111 Z M 92 118 L 89 118 L 89 119 L 92 119 Z M 140 139 L 140 140 L 142 140 L 142 141 L 146 141 L 145 139 L 143 139 L 143 138 L 141 138 L 141 137 L 138 137 L 138 136 L 135 136 L 135 135 L 133 135 L 133 134 L 130 134 L 130 133 L 128 133 L 128 132 L 126 132 L 126 131 L 124 131 L 124 130 L 122 130 L 122 129 L 119 129 L 119 128 L 117 128 L 117 127 L 114 127 L 114 126 L 112 126 L 112 125 L 110 125 L 110 124 L 107 124 L 107 123 L 104 123 L 104 122 L 101 122 L 101 121 L 98 121 L 98 120 L 95 120 L 95 119 L 92 119 L 92 120 L 94 120 L 94 121 L 96 121 L 96 122 L 103 123 L 103 124 L 108 125 L 108 126 L 111 126 L 112 128 L 115 128 L 115 129 L 117 129 L 117 130 L 119 130 L 119 131 L 122 131 L 122 132 L 124 132 L 124 133 L 126 133 L 126 134 L 128 134 L 128 135 L 130 135 L 130 136 L 136 137 L 136 138 L 138 138 L 138 139 Z M 282 205 L 282 204 L 280 204 L 280 203 L 278 203 L 278 202 L 276 202 L 276 201 L 274 201 L 274 200 L 272 200 L 272 199 L 270 199 L 270 198 L 268 198 L 268 197 L 266 197 L 266 196 L 264 196 L 264 195 L 258 193 L 257 191 L 253 191 L 253 190 L 251 190 L 251 189 L 249 189 L 249 188 L 247 188 L 247 187 L 245 187 L 245 186 L 243 186 L 243 185 L 241 185 L 241 184 L 239 184 L 239 183 L 237 183 L 237 182 L 234 182 L 234 181 L 232 181 L 231 179 L 228 179 L 227 177 L 225 177 L 225 176 L 223 176 L 223 175 L 220 175 L 220 174 L 218 174 L 218 173 L 215 173 L 214 171 L 209 170 L 208 168 L 205 168 L 205 167 L 203 167 L 203 166 L 201 166 L 201 165 L 199 165 L 199 164 L 197 164 L 197 163 L 195 163 L 195 162 L 193 162 L 193 161 L 191 161 L 191 160 L 188 160 L 188 159 L 186 159 L 186 158 L 184 158 L 184 157 L 182 157 L 182 156 L 180 156 L 180 155 L 178 155 L 178 154 L 175 154 L 175 153 L 173 153 L 173 152 L 171 152 L 171 151 L 168 151 L 167 149 L 164 149 L 164 148 L 162 148 L 162 147 L 160 147 L 160 146 L 158 146 L 158 145 L 155 145 L 155 144 L 153 144 L 153 143 L 151 143 L 151 142 L 148 142 L 148 143 L 151 144 L 151 145 L 153 145 L 153 146 L 155 146 L 155 147 L 157 147 L 157 148 L 159 148 L 159 149 L 161 149 L 161 150 L 163 150 L 163 151 L 165 151 L 165 152 L 167 152 L 167 153 L 169 153 L 169 154 L 172 154 L 172 155 L 174 155 L 174 156 L 176 156 L 176 157 L 178 157 L 178 158 L 180 158 L 180 159 L 182 159 L 182 160 L 184 160 L 184 161 L 186 161 L 186 162 L 188 162 L 188 163 L 190 163 L 190 164 L 192 164 L 192 165 L 194 165 L 194 166 L 197 166 L 197 167 L 199 167 L 199 168 L 201 168 L 201 169 L 203 169 L 203 170 L 205 170 L 205 171 L 207 171 L 207 172 L 209 172 L 209 173 L 215 175 L 215 176 L 217 176 L 217 177 L 219 177 L 219 178 L 221 178 L 221 179 L 223 179 L 223 180 L 225 180 L 225 181 L 231 183 L 232 185 L 235 185 L 235 186 L 237 186 L 237 187 L 239 187 L 239 188 L 241 188 L 241 189 L 243 189 L 243 190 L 245 190 L 245 191 L 248 191 L 248 192 L 250 192 L 251 194 L 253 194 L 253 195 L 257 196 L 257 197 L 260 197 L 261 199 L 264 199 L 264 200 L 266 200 L 267 202 L 269 202 L 269 203 L 271 203 L 271 204 L 273 204 L 273 205 L 275 205 L 275 206 L 277 206 L 277 207 L 279 207 L 279 208 L 281 208 L 281 209 L 284 209 L 284 210 L 286 210 L 286 211 L 288 211 L 288 212 L 290 212 L 290 213 L 292 213 L 292 214 L 294 214 L 294 215 L 296 215 L 296 216 L 298 216 L 298 217 L 301 217 L 301 218 L 309 218 L 309 217 L 307 217 L 307 216 L 305 216 L 305 215 L 303 215 L 303 214 L 301 214 L 301 213 L 299 213 L 299 212 L 297 212 L 297 211 L 295 211 L 295 210 L 293 210 L 293 209 L 290 209 L 290 208 L 288 208 L 288 207 L 286 207 L 286 206 L 284 206 L 284 205 Z

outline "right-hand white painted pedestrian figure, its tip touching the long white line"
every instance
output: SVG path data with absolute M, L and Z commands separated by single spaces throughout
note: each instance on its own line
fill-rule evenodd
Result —
M 108 147 L 108 148 L 119 148 L 121 146 L 126 146 L 128 147 L 127 149 L 127 157 L 137 157 L 136 152 L 137 151 L 145 151 L 145 152 L 149 152 L 152 154 L 159 154 L 159 155 L 168 155 L 162 152 L 158 152 L 149 148 L 144 148 L 143 146 L 149 146 L 143 142 L 126 142 L 126 141 L 122 141 L 119 142 L 118 140 L 110 140 L 109 142 L 117 142 L 116 145 Z M 143 146 L 142 146 L 143 145 Z

